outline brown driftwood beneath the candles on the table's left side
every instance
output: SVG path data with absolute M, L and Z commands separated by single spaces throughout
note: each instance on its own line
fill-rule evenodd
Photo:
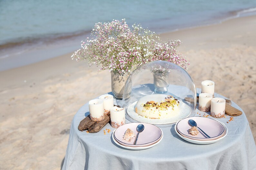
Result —
M 119 105 L 114 105 L 120 107 Z M 82 121 L 80 121 L 78 125 L 78 130 L 83 131 L 87 130 L 90 133 L 95 133 L 100 131 L 108 122 L 110 121 L 110 114 L 104 115 L 104 119 L 102 121 L 91 121 L 90 116 L 88 115 Z

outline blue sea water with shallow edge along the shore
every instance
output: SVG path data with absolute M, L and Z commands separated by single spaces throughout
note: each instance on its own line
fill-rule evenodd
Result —
M 11 67 L 1 65 L 4 58 L 18 57 L 47 44 L 54 51 L 57 49 L 52 44 L 60 40 L 66 47 L 63 53 L 79 49 L 80 41 L 96 22 L 125 18 L 130 26 L 141 23 L 162 33 L 221 22 L 253 13 L 255 7 L 253 0 L 0 0 L 0 70 Z M 76 48 L 72 46 L 74 40 L 78 42 Z M 60 55 L 57 51 L 48 58 Z M 30 58 L 22 65 L 46 59 L 44 56 Z

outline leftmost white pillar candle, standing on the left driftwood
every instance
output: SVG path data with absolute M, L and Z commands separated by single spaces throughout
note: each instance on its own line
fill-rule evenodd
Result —
M 104 119 L 103 100 L 94 99 L 89 101 L 90 119 L 92 121 L 102 121 Z

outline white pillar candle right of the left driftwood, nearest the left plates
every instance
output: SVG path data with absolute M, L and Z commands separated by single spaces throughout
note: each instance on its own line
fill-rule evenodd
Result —
M 110 109 L 110 121 L 112 128 L 118 128 L 125 124 L 124 108 L 114 106 Z

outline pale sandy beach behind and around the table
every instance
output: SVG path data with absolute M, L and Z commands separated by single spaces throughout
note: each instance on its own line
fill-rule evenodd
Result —
M 243 109 L 256 141 L 255 28 L 256 16 L 248 16 L 160 37 L 182 41 L 179 51 L 196 87 L 214 81 L 216 93 Z M 108 70 L 98 74 L 70 56 L 0 72 L 0 169 L 60 170 L 75 113 L 111 91 Z

